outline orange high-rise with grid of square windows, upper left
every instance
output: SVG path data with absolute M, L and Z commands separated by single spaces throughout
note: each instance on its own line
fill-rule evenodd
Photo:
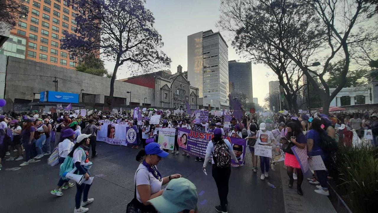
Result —
M 0 54 L 33 60 L 68 69 L 75 69 L 77 61 L 68 51 L 61 50 L 63 33 L 75 33 L 77 7 L 64 0 L 22 0 L 26 16 L 19 19 L 10 31 Z

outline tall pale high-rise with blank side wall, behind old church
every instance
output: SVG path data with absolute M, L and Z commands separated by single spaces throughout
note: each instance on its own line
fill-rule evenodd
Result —
M 219 32 L 201 31 L 187 37 L 188 80 L 199 97 L 229 106 L 228 45 Z

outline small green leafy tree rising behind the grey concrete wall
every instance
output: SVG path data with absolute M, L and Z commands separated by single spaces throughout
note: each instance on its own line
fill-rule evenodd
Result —
M 84 60 L 76 66 L 76 71 L 112 78 L 112 74 L 105 69 L 104 62 L 93 54 L 85 56 Z

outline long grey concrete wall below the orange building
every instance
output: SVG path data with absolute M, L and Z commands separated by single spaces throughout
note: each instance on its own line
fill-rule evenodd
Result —
M 0 69 L 3 67 L 3 65 L 0 66 Z M 110 78 L 12 56 L 8 56 L 6 72 L 5 98 L 13 101 L 14 99 L 33 100 L 34 93 L 46 90 L 54 91 L 55 83 L 52 81 L 55 77 L 59 81 L 58 91 L 80 94 L 80 90 L 85 89 L 83 93 L 103 94 L 105 96 L 110 93 Z M 76 83 L 73 83 L 73 81 Z M 126 91 L 132 91 L 131 102 L 137 102 L 142 105 L 144 97 L 147 97 L 150 103 L 155 102 L 154 89 L 152 88 L 118 80 L 115 81 L 114 88 L 114 96 L 127 98 L 127 104 L 130 102 L 130 94 L 127 94 Z

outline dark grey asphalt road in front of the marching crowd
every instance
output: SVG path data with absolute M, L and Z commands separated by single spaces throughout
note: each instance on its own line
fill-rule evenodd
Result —
M 127 203 L 134 196 L 134 173 L 139 162 L 135 160 L 138 150 L 98 142 L 98 157 L 91 159 L 92 176 L 95 176 L 89 197 L 95 201 L 88 207 L 91 213 L 125 212 Z M 247 151 L 248 152 L 248 151 Z M 195 157 L 172 155 L 158 164 L 163 176 L 179 173 L 197 187 L 198 209 L 201 213 L 216 212 L 219 204 L 217 188 L 211 177 L 211 167 L 206 176 L 202 162 Z M 76 187 L 64 190 L 61 197 L 50 194 L 59 180 L 59 166 L 47 164 L 47 157 L 31 163 L 18 171 L 6 168 L 18 166 L 20 161 L 3 161 L 0 171 L 0 213 L 66 213 L 74 210 Z M 280 169 L 270 171 L 270 177 L 260 180 L 260 171 L 252 172 L 251 154 L 246 155 L 246 166 L 232 168 L 228 194 L 230 213 L 285 212 Z M 270 182 L 277 188 L 270 188 Z

